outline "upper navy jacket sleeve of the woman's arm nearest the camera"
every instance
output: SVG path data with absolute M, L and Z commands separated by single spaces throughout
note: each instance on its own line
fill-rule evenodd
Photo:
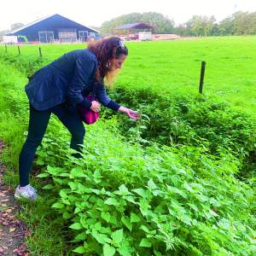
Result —
M 89 79 L 96 72 L 96 62 L 90 58 L 78 57 L 75 62 L 73 79 L 67 88 L 67 100 L 72 104 L 86 102 L 82 91 L 89 86 Z

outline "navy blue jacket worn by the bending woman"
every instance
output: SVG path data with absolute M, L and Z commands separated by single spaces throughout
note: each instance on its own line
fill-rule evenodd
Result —
M 32 107 L 46 110 L 67 102 L 90 108 L 91 103 L 85 96 L 94 87 L 98 101 L 107 106 L 113 101 L 108 97 L 104 84 L 95 78 L 97 65 L 96 55 L 89 49 L 77 49 L 39 69 L 25 88 Z

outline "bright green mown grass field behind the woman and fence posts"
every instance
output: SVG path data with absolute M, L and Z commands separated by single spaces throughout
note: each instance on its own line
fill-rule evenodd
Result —
M 193 41 L 128 42 L 130 54 L 117 84 L 159 93 L 198 92 L 201 61 L 207 62 L 204 94 L 256 111 L 256 37 L 201 38 Z M 46 62 L 83 44 L 41 45 Z M 4 51 L 4 47 L 1 47 Z M 17 55 L 16 46 L 8 52 Z M 21 45 L 21 55 L 39 55 L 38 45 Z

